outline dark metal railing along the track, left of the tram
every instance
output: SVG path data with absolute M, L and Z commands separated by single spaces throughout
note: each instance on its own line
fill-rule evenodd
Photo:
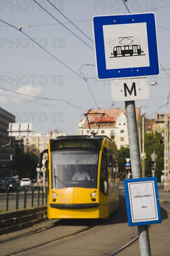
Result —
M 2 188 L 1 188 L 2 189 Z M 26 209 L 47 204 L 47 187 L 27 186 L 3 188 L 0 194 L 0 210 Z

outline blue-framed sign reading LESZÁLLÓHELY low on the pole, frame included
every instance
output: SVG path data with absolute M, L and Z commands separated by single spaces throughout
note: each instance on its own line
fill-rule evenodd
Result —
M 161 223 L 156 177 L 124 180 L 129 226 Z

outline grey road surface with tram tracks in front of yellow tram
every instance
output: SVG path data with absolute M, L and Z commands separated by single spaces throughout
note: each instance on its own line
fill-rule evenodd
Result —
M 59 226 L 56 221 L 50 229 L 2 243 L 0 255 L 20 251 L 21 256 L 109 256 L 138 235 L 137 227 L 128 227 L 124 193 L 120 191 L 119 208 L 108 220 L 64 220 Z M 161 215 L 163 222 L 149 228 L 152 256 L 170 255 L 170 204 L 161 203 Z M 140 256 L 138 240 L 118 253 L 131 255 Z

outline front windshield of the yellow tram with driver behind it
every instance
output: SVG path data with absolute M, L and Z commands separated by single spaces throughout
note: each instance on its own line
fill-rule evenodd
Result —
M 52 189 L 97 188 L 98 152 L 53 151 L 51 158 Z

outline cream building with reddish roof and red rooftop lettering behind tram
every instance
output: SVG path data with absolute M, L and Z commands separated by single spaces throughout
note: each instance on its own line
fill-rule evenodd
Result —
M 140 127 L 140 108 L 136 108 L 137 126 Z M 88 118 L 88 120 L 87 120 Z M 79 121 L 77 135 L 106 135 L 115 141 L 118 149 L 129 146 L 125 109 L 90 109 Z

